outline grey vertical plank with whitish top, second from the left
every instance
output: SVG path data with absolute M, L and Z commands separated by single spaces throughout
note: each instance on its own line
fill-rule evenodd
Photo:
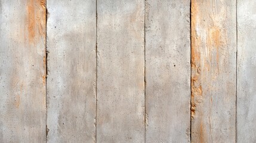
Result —
M 47 8 L 48 142 L 95 142 L 96 2 Z

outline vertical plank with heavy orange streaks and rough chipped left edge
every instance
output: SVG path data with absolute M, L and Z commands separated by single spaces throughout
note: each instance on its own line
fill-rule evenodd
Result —
M 236 1 L 192 0 L 192 142 L 236 141 Z

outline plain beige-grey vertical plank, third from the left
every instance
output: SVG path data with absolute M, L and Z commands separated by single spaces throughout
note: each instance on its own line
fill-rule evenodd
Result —
M 144 0 L 98 0 L 97 17 L 97 142 L 144 142 Z

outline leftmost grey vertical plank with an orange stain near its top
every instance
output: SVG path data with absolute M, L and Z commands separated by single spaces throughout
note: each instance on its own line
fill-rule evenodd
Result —
M 0 142 L 45 142 L 45 1 L 0 1 Z

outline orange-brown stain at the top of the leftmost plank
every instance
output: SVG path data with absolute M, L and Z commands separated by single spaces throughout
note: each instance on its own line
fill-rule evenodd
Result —
M 29 43 L 38 42 L 45 37 L 46 25 L 45 0 L 29 0 L 27 2 L 27 38 Z

